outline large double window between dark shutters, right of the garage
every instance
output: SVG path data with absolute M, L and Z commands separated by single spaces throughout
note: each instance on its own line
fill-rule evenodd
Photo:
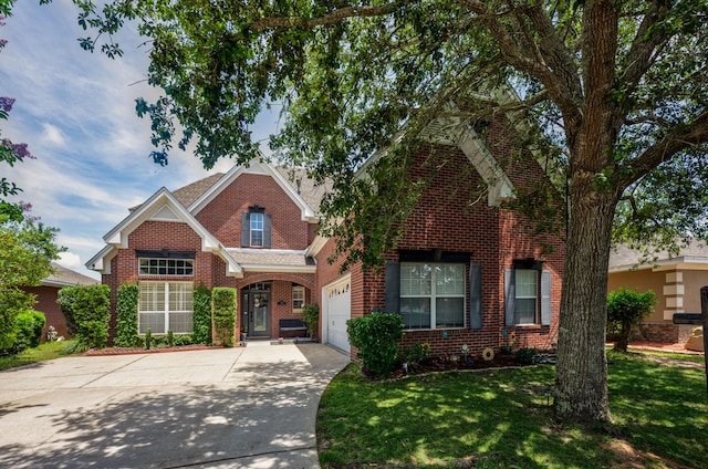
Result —
M 402 263 L 400 315 L 406 329 L 465 326 L 465 264 Z

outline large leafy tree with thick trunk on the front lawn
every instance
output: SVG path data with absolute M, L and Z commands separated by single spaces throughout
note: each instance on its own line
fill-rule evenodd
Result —
M 364 237 L 348 251 L 352 262 L 375 263 L 394 246 L 425 185 L 403 176 L 405 148 L 434 119 L 479 128 L 503 115 L 525 128 L 529 147 L 555 163 L 548 168 L 560 181 L 537 194 L 560 195 L 569 209 L 556 411 L 610 418 L 604 345 L 613 222 L 618 239 L 642 243 L 706 233 L 705 0 L 116 0 L 101 11 L 91 0 L 76 4 L 80 23 L 101 33 L 84 39 L 85 49 L 101 43 L 119 54 L 117 44 L 96 40 L 125 19 L 137 19 L 146 35 L 149 82 L 164 96 L 138 101 L 137 112 L 152 118 L 159 163 L 173 142 L 196 142 L 207 167 L 223 156 L 247 161 L 257 154 L 249 125 L 263 106 L 282 105 L 283 128 L 271 145 L 334 181 L 324 226 L 345 248 Z M 384 148 L 371 179 L 356 178 Z M 384 181 L 387 190 L 377 191 Z M 350 215 L 362 221 L 333 223 Z

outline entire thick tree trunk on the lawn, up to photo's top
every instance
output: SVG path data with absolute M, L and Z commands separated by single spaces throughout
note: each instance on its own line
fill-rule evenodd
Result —
M 610 419 L 607 405 L 607 264 L 621 188 L 613 168 L 617 123 L 611 100 L 617 50 L 617 9 L 594 0 L 583 14 L 583 118 L 566 128 L 570 223 L 558 334 L 556 415 L 573 421 Z M 604 175 L 604 176 L 603 176 Z

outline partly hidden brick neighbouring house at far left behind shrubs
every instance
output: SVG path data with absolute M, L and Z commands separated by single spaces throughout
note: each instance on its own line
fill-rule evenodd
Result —
M 46 317 L 46 323 L 42 331 L 43 341 L 46 338 L 46 332 L 50 325 L 54 326 L 56 335 L 62 335 L 64 337 L 69 336 L 66 331 L 66 319 L 64 317 L 62 310 L 59 308 L 59 303 L 56 303 L 59 291 L 64 286 L 95 285 L 96 283 L 100 283 L 96 279 L 92 279 L 91 277 L 63 268 L 56 262 L 52 262 L 52 269 L 54 269 L 54 273 L 42 279 L 39 286 L 30 286 L 25 289 L 28 293 L 37 295 L 37 304 L 34 305 L 34 309 L 44 313 L 44 316 Z

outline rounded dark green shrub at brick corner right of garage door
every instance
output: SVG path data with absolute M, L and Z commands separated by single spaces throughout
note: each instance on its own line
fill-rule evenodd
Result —
M 403 338 L 400 314 L 374 312 L 346 322 L 350 343 L 357 348 L 364 372 L 385 378 L 396 367 L 398 342 Z

